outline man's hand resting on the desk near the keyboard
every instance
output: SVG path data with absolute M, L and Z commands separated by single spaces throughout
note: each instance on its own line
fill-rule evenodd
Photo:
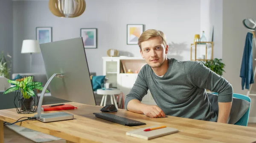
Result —
M 156 105 L 146 105 L 144 109 L 142 109 L 144 115 L 151 118 L 162 118 L 165 117 L 165 114 L 162 109 L 160 109 Z

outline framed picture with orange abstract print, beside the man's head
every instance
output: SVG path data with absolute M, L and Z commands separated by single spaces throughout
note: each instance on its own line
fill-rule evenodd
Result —
M 127 25 L 127 45 L 137 45 L 140 35 L 144 31 L 143 24 L 128 24 Z

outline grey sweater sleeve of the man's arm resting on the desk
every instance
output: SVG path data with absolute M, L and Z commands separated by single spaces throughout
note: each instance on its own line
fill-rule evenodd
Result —
M 128 102 L 132 99 L 142 101 L 142 98 L 148 93 L 148 84 L 145 81 L 145 68 L 142 68 L 138 73 L 134 86 L 131 88 L 125 98 L 125 109 L 127 109 Z

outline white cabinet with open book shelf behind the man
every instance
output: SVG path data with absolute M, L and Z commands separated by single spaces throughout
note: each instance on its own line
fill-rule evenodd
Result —
M 113 88 L 122 90 L 122 93 L 126 95 L 133 87 L 138 72 L 147 64 L 145 59 L 141 57 L 102 57 L 103 59 L 103 75 L 108 78 L 108 83 L 112 84 Z M 122 70 L 124 69 L 125 70 Z M 133 73 L 124 73 L 130 69 Z M 143 98 L 144 104 L 155 104 L 150 91 Z

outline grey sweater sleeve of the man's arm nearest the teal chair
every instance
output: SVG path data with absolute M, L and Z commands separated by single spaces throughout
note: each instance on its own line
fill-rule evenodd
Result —
M 232 85 L 201 62 L 188 61 L 184 65 L 187 78 L 194 87 L 218 93 L 218 102 L 231 102 Z

